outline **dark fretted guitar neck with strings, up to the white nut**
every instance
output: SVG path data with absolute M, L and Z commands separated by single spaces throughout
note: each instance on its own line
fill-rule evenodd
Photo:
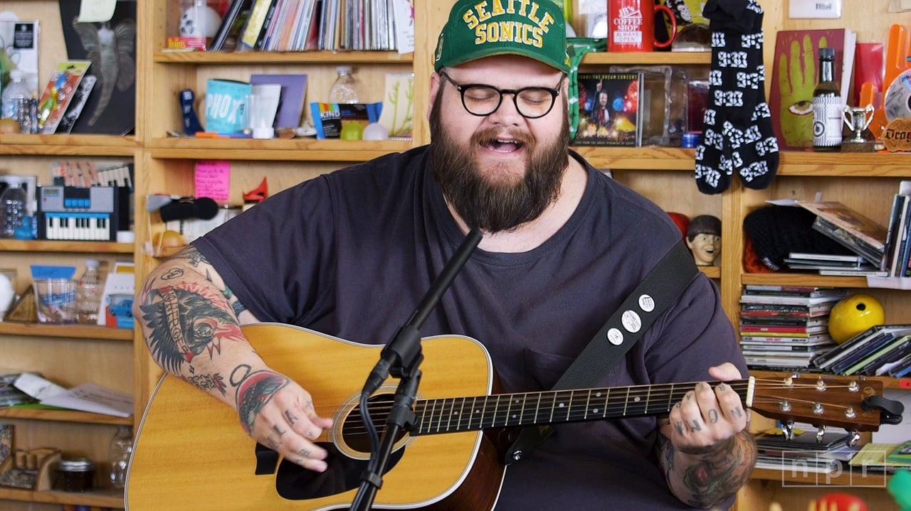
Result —
M 726 382 L 746 406 L 753 379 Z M 612 386 L 523 394 L 425 399 L 415 403 L 411 434 L 435 435 L 499 427 L 537 426 L 670 413 L 695 383 Z

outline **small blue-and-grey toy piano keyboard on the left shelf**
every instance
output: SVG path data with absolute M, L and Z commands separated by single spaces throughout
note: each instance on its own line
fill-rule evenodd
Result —
M 115 241 L 129 228 L 128 187 L 51 185 L 38 195 L 38 239 Z

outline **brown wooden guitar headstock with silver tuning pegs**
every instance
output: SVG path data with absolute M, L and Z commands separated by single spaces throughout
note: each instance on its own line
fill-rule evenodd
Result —
M 883 382 L 848 376 L 756 378 L 752 409 L 785 422 L 876 431 L 898 424 L 904 406 L 883 397 Z

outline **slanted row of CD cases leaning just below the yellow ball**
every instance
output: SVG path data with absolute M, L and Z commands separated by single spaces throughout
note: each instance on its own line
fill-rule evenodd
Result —
M 844 376 L 911 374 L 911 325 L 878 325 L 813 359 L 813 366 Z

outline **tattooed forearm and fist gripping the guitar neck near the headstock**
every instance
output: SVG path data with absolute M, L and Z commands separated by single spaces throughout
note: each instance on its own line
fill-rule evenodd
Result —
M 740 378 L 732 364 L 712 377 Z M 688 506 L 709 508 L 734 495 L 752 473 L 756 444 L 748 415 L 731 386 L 697 384 L 660 426 L 659 460 L 670 491 Z

